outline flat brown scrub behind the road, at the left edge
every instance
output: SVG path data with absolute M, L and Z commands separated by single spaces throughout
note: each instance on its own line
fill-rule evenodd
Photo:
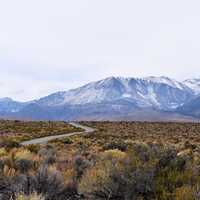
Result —
M 34 138 L 77 131 L 82 131 L 82 129 L 75 128 L 66 122 L 0 120 L 1 140 L 7 140 L 9 137 L 9 140 L 21 142 Z

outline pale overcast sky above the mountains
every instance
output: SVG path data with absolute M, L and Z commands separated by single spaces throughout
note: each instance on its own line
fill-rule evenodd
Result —
M 200 77 L 199 0 L 0 0 L 0 97 L 109 76 Z

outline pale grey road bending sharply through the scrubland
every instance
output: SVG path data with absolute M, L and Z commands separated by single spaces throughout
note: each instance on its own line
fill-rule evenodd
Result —
M 64 137 L 70 137 L 73 135 L 80 135 L 80 134 L 84 134 L 84 133 L 93 133 L 95 131 L 95 129 L 90 128 L 88 126 L 83 126 L 80 125 L 79 123 L 69 123 L 72 126 L 75 126 L 77 128 L 82 128 L 84 131 L 82 132 L 74 132 L 74 133 L 66 133 L 66 134 L 62 134 L 62 135 L 52 135 L 52 136 L 47 136 L 47 137 L 42 137 L 42 138 L 36 138 L 33 140 L 29 140 L 29 141 L 25 141 L 22 142 L 21 145 L 30 145 L 30 144 L 46 144 L 47 142 L 49 142 L 50 140 L 54 140 L 54 139 L 60 139 L 60 138 L 64 138 Z

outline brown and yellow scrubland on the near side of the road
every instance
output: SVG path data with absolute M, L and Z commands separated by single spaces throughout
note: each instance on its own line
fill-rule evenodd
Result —
M 1 145 L 0 199 L 200 199 L 200 124 L 84 124 L 98 131 Z

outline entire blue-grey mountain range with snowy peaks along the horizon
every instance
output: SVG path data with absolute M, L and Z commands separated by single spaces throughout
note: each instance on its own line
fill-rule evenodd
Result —
M 198 121 L 200 79 L 109 77 L 30 101 L 0 99 L 0 117 L 27 120 Z

